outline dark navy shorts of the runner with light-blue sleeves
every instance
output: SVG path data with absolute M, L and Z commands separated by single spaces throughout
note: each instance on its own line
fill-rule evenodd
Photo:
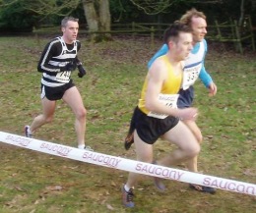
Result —
M 183 90 L 182 88 L 179 90 L 179 96 L 177 101 L 177 106 L 179 109 L 191 107 L 194 99 L 194 87 L 191 85 L 188 89 Z

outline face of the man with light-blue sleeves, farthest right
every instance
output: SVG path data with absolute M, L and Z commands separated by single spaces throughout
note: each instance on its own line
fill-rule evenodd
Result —
M 193 17 L 191 21 L 192 21 L 191 27 L 193 30 L 193 42 L 194 43 L 200 42 L 205 38 L 205 35 L 207 33 L 206 20 L 200 17 Z

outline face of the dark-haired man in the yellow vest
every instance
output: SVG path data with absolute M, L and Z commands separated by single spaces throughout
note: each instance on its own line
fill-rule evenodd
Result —
M 175 51 L 175 56 L 177 61 L 185 60 L 192 50 L 193 38 L 192 33 L 180 32 L 178 40 L 173 42 L 173 47 L 171 51 Z

